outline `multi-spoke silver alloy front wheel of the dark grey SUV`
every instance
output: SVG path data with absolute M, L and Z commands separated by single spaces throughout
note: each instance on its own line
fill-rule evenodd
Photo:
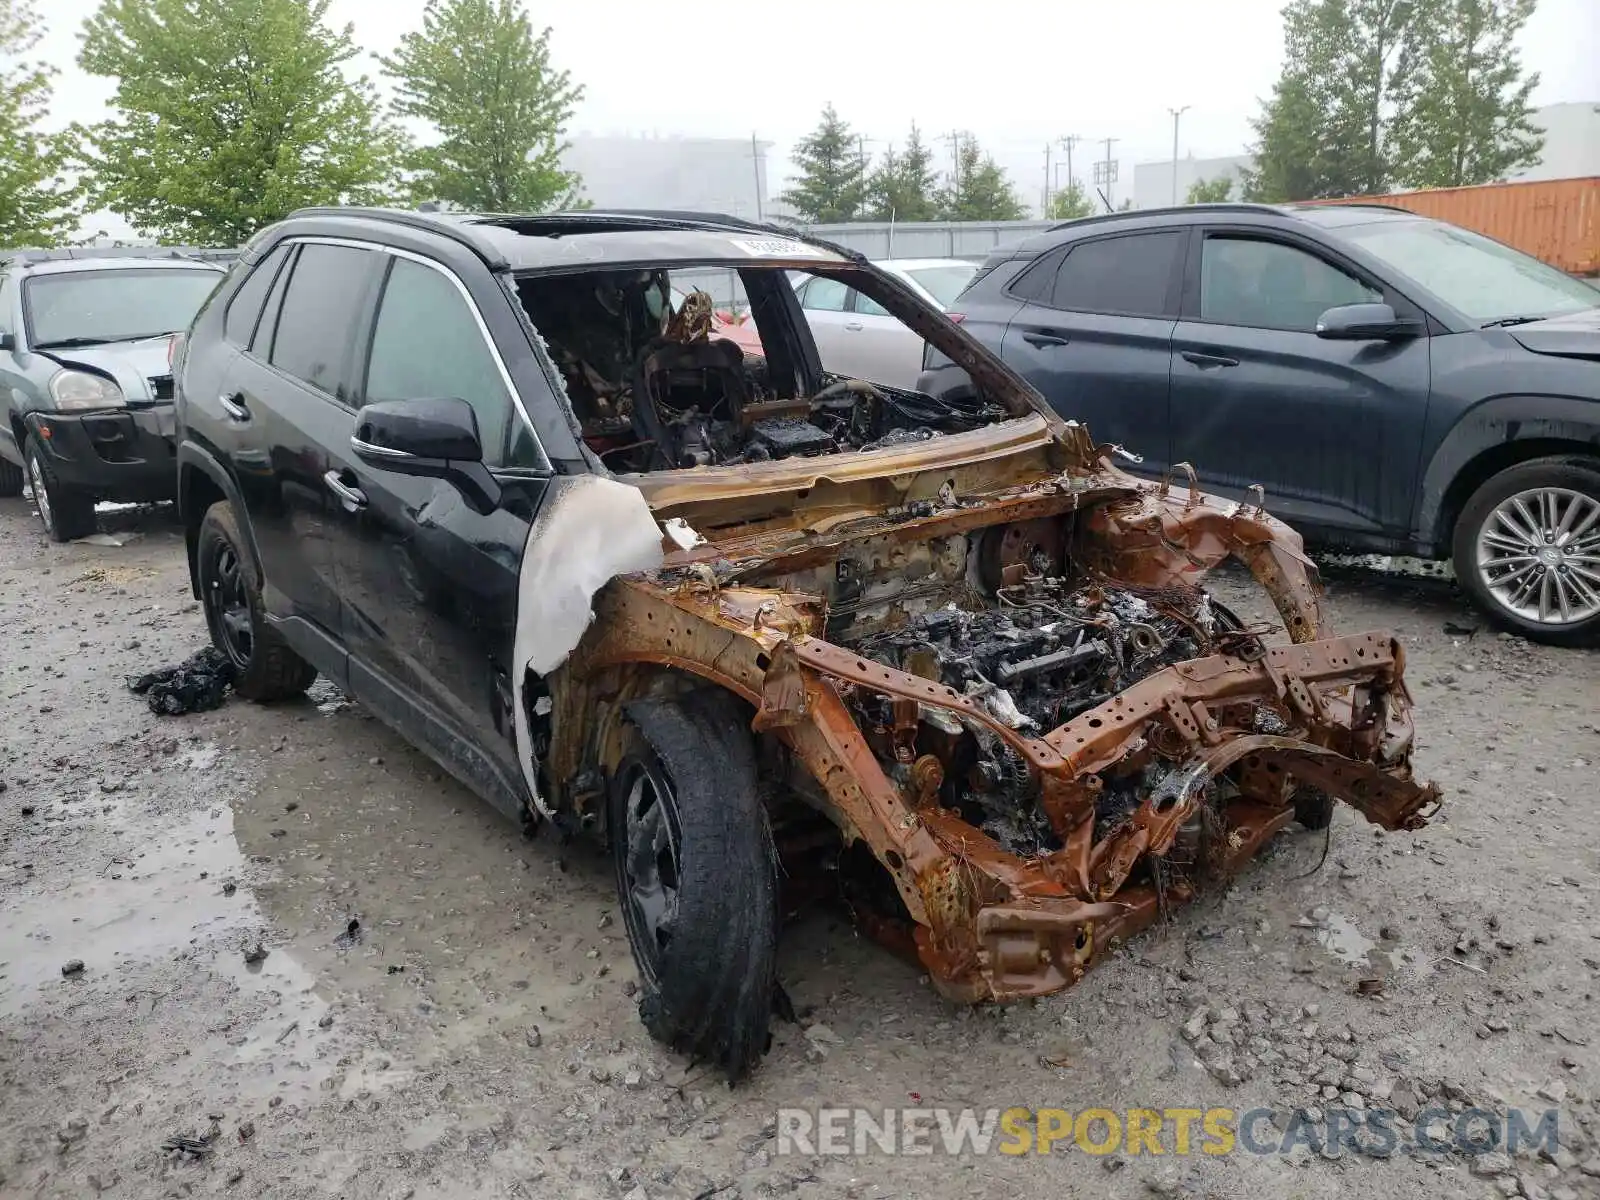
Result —
M 1490 477 L 1461 510 L 1451 557 L 1499 627 L 1557 646 L 1600 640 L 1600 461 L 1541 458 Z

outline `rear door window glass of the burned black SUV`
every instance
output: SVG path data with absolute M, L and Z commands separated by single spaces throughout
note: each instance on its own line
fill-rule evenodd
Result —
M 294 259 L 270 362 L 330 395 L 344 397 L 357 309 L 371 251 L 307 243 Z

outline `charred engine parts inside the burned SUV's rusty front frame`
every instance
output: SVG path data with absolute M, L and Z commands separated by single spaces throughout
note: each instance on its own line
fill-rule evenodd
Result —
M 883 560 L 870 554 L 840 558 L 829 640 L 950 688 L 1026 738 L 1042 738 L 1173 664 L 1262 650 L 1264 627 L 1246 629 L 1198 587 L 1134 589 L 1074 565 L 1059 520 L 907 547 L 891 576 L 918 570 L 923 554 L 930 578 L 904 582 L 885 579 Z M 989 725 L 867 688 L 851 690 L 846 704 L 902 787 L 960 813 L 1014 854 L 1062 848 L 1030 765 Z M 1253 731 L 1286 728 L 1266 709 L 1243 718 Z M 1149 746 L 1110 774 L 1098 835 L 1126 819 L 1182 750 Z M 1198 858 L 1195 846 L 1187 850 Z

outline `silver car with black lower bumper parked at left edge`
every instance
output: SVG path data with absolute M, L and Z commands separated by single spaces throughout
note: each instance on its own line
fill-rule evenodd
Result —
M 222 278 L 211 262 L 18 251 L 0 264 L 0 496 L 32 488 L 58 542 L 94 502 L 173 499 L 173 334 Z

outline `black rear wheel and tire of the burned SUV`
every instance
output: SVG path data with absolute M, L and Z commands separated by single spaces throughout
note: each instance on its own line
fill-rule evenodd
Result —
M 302 694 L 317 669 L 267 622 L 261 579 L 227 501 L 218 501 L 202 517 L 195 562 L 205 624 L 211 645 L 234 664 L 234 691 L 261 704 Z

